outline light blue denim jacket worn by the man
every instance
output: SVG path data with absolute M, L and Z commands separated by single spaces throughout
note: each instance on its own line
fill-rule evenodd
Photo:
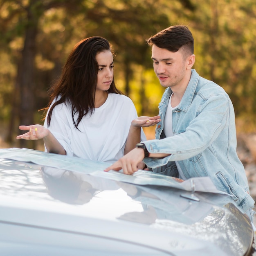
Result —
M 219 85 L 192 70 L 182 100 L 173 110 L 174 136 L 166 138 L 164 116 L 171 93 L 167 88 L 159 103 L 162 121 L 157 124 L 156 139 L 143 142 L 150 153 L 171 155 L 147 157 L 144 162 L 156 173 L 178 177 L 173 162 L 178 161 L 187 179 L 209 176 L 217 189 L 229 193 L 232 202 L 245 213 L 254 206 L 254 200 L 236 153 L 235 115 L 229 96 Z

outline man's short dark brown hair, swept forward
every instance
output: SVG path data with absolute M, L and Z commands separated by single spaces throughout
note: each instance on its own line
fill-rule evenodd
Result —
M 147 40 L 148 45 L 177 52 L 181 47 L 189 55 L 194 53 L 194 38 L 188 27 L 175 25 L 168 27 Z

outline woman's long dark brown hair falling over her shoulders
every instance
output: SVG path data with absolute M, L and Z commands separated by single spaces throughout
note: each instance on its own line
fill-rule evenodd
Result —
M 100 36 L 85 38 L 72 49 L 63 67 L 62 75 L 50 88 L 50 100 L 44 114 L 49 109 L 47 125 L 52 118 L 52 111 L 58 104 L 69 102 L 72 106 L 73 124 L 77 128 L 83 116 L 94 112 L 94 97 L 97 87 L 97 74 L 99 70 L 96 55 L 99 52 L 111 51 L 108 40 Z M 115 86 L 113 79 L 108 92 L 122 94 Z M 59 99 L 51 103 L 59 96 Z M 78 114 L 75 120 L 74 116 Z

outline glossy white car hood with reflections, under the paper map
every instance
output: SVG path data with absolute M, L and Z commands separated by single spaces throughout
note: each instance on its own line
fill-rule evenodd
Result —
M 24 153 L 28 162 L 17 161 Z M 38 156 L 40 165 L 29 162 Z M 78 159 L 35 150 L 0 150 L 0 157 L 0 223 L 101 236 L 179 256 L 240 256 L 250 243 L 252 227 L 225 193 L 196 192 L 196 202 L 180 197 L 191 191 L 175 186 L 137 185 L 136 177 L 122 182 L 122 173 L 119 181 L 95 175 L 104 163 L 87 161 L 91 175 L 67 170 L 81 167 L 80 159 L 74 164 Z M 62 169 L 49 166 L 55 162 Z

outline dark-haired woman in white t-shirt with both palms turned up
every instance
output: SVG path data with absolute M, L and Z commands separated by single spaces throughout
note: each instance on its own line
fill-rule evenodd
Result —
M 157 124 L 159 116 L 137 117 L 115 86 L 113 67 L 106 39 L 81 40 L 50 90 L 44 126 L 20 126 L 29 132 L 17 139 L 43 139 L 47 152 L 110 163 L 146 140 L 141 127 Z

